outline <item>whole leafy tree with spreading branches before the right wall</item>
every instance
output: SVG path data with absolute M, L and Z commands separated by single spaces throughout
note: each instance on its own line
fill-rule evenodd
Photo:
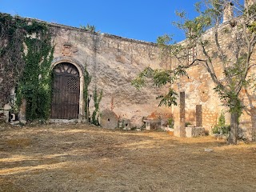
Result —
M 162 50 L 162 57 L 176 58 L 178 68 L 174 70 L 144 70 L 134 79 L 135 86 L 142 86 L 145 78 L 153 78 L 157 86 L 173 84 L 179 74 L 186 74 L 191 66 L 202 65 L 210 74 L 215 84 L 219 98 L 230 112 L 230 136 L 228 142 L 236 144 L 238 138 L 238 118 L 242 114 L 242 102 L 239 94 L 242 88 L 255 88 L 255 76 L 249 73 L 255 64 L 252 61 L 256 43 L 256 3 L 239 0 L 201 0 L 195 5 L 198 17 L 186 18 L 185 12 L 177 12 L 180 22 L 174 25 L 186 34 L 186 41 L 175 43 L 168 35 L 158 38 L 158 46 Z M 224 24 L 222 24 L 224 17 Z M 206 30 L 211 30 L 207 33 Z M 206 35 L 208 34 L 208 36 Z M 211 34 L 211 37 L 209 37 Z M 228 38 L 229 43 L 222 43 Z M 198 54 L 191 55 L 191 49 L 197 47 Z M 189 59 L 188 59 L 189 58 Z M 189 61 L 189 63 L 187 63 Z M 217 74 L 215 67 L 222 67 L 222 74 Z M 178 70 L 179 73 L 174 71 Z M 153 74 L 153 75 L 152 75 Z M 251 75 L 249 75 L 251 74 Z M 168 102 L 175 104 L 177 93 L 170 88 Z M 161 96 L 165 98 L 164 96 Z

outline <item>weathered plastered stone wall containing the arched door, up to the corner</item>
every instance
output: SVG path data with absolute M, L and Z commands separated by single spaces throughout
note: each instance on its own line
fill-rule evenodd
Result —
M 69 26 L 50 27 L 55 45 L 53 67 L 61 62 L 70 62 L 82 72 L 86 69 L 92 77 L 89 95 L 93 95 L 95 86 L 98 92 L 102 90 L 100 111 L 113 110 L 120 121 L 129 119 L 132 127 L 141 127 L 142 118 L 153 112 L 171 113 L 170 108 L 158 107 L 155 100 L 165 89 L 144 87 L 137 90 L 131 85 L 131 80 L 146 66 L 154 69 L 170 67 L 169 62 L 159 59 L 158 47 L 154 43 L 90 33 Z M 93 102 L 92 96 L 90 114 L 94 110 Z M 80 105 L 82 114 L 84 103 Z

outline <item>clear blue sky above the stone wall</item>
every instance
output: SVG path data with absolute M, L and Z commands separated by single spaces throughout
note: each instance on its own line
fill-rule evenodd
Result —
M 195 16 L 197 0 L 0 0 L 0 12 L 38 18 L 67 26 L 96 26 L 101 33 L 156 42 L 162 34 L 184 38 L 171 25 L 177 20 L 175 10 L 186 10 Z

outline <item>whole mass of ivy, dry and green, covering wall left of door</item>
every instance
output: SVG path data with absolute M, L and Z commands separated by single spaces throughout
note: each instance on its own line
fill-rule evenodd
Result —
M 3 82 L 0 102 L 10 94 L 10 87 L 16 87 L 17 105 L 26 99 L 26 120 L 47 119 L 50 115 L 51 79 L 50 64 L 54 46 L 46 23 L 0 14 L 2 39 Z M 13 51 L 14 50 L 14 51 Z

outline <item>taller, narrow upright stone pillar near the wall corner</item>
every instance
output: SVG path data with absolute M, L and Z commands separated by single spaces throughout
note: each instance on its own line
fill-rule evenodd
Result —
M 180 92 L 180 102 L 179 102 L 179 123 L 174 122 L 174 136 L 185 138 L 186 128 L 185 128 L 185 92 Z

